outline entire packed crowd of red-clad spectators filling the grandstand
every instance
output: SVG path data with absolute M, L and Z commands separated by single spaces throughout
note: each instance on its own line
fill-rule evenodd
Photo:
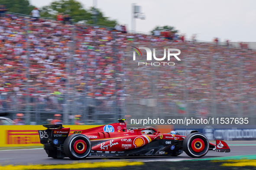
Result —
M 62 16 L 58 21 L 0 18 L 2 94 L 42 94 L 43 98 L 73 91 L 105 98 L 255 102 L 253 50 L 219 46 L 216 39 L 215 43 L 186 41 L 170 32 L 131 34 L 126 28 L 63 22 Z M 130 67 L 126 43 L 178 48 L 181 61 L 173 61 L 175 66 Z

